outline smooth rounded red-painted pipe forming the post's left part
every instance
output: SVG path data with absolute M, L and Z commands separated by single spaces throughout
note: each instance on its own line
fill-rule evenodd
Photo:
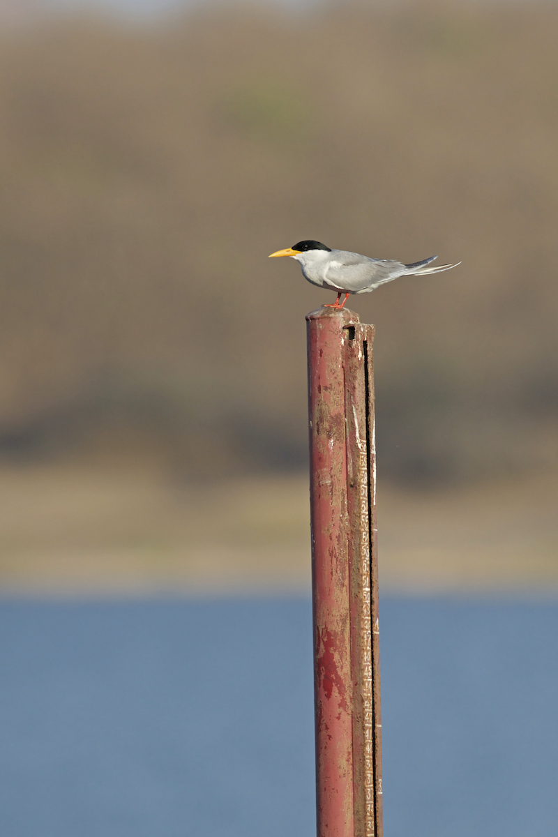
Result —
M 350 317 L 321 309 L 308 318 L 319 837 L 354 837 L 351 694 L 347 691 L 352 691 L 351 636 L 344 613 L 348 578 L 342 538 L 345 403 L 340 397 L 343 370 L 339 363 L 342 326 Z

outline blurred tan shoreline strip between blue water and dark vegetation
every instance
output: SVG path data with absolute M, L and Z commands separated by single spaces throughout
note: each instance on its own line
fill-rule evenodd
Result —
M 380 485 L 381 591 L 558 593 L 558 475 Z M 310 592 L 306 475 L 181 485 L 139 469 L 0 470 L 0 594 Z

